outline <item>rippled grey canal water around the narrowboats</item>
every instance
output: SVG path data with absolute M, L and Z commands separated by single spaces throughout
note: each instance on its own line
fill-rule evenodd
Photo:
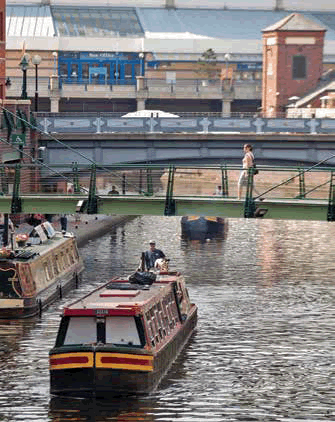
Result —
M 81 248 L 78 290 L 26 321 L 0 321 L 0 420 L 335 421 L 335 224 L 226 220 L 205 243 L 180 218 L 139 217 Z M 55 398 L 48 351 L 62 307 L 131 273 L 154 238 L 185 275 L 197 332 L 157 391 L 139 398 Z

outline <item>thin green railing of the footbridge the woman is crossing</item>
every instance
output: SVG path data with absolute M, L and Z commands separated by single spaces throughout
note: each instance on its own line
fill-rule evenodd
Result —
M 335 169 L 259 166 L 253 197 L 328 200 Z M 171 185 L 171 172 L 173 175 Z M 0 165 L 2 195 L 119 195 L 236 199 L 241 169 L 231 165 Z M 93 180 L 93 182 L 92 182 Z M 93 184 L 92 184 L 93 183 Z M 113 188 L 114 187 L 114 188 Z M 220 189 L 219 189 L 220 187 Z M 246 186 L 243 187 L 243 197 Z

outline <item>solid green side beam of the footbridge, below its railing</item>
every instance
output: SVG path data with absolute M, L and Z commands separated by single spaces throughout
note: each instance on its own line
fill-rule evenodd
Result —
M 164 215 L 165 197 L 142 195 L 100 195 L 100 214 Z M 82 195 L 22 195 L 22 213 L 74 214 Z M 215 215 L 243 218 L 245 201 L 221 197 L 174 197 L 175 215 Z M 11 196 L 0 197 L 0 211 L 11 212 Z M 256 209 L 265 210 L 263 218 L 292 220 L 327 220 L 326 199 L 255 200 Z

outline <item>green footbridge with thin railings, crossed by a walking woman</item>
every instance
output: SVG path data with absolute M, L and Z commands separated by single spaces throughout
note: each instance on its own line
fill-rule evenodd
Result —
M 0 167 L 3 213 L 215 215 L 335 221 L 335 169 L 261 166 L 237 199 L 237 166 Z M 34 174 L 27 183 L 26 174 Z M 118 194 L 109 192 L 115 187 Z M 220 193 L 217 193 L 221 186 Z

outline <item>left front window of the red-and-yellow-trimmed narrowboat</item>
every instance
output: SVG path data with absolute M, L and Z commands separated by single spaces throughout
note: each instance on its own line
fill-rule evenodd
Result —
M 94 317 L 71 317 L 64 345 L 97 342 L 97 324 Z

